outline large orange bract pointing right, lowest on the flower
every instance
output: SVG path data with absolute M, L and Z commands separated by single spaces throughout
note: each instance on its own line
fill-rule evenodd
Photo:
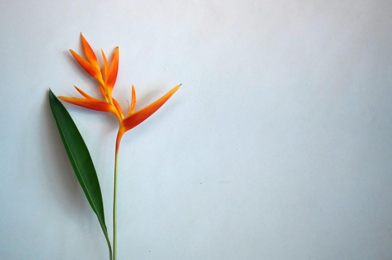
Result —
M 123 120 L 123 126 L 125 131 L 132 129 L 137 126 L 144 120 L 146 120 L 149 116 L 151 116 L 155 111 L 157 111 L 165 102 L 180 88 L 181 84 L 172 88 L 169 92 L 167 92 L 163 97 L 146 106 L 145 108 L 140 109 L 136 113 L 133 113 L 129 117 Z

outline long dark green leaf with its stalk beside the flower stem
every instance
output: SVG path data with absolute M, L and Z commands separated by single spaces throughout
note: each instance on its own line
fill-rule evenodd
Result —
M 65 109 L 63 104 L 50 89 L 49 104 L 76 177 L 78 178 L 80 186 L 82 186 L 83 192 L 86 195 L 91 208 L 93 208 L 98 217 L 98 221 L 100 222 L 109 246 L 109 257 L 111 259 L 112 253 L 103 213 L 101 188 L 93 160 L 91 160 L 89 150 L 87 149 L 82 135 L 73 122 L 71 115 L 69 115 L 67 109 Z

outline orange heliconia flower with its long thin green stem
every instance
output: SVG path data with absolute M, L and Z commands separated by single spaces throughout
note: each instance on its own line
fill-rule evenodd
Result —
M 132 85 L 132 98 L 131 98 L 131 106 L 127 115 L 125 116 L 118 102 L 112 97 L 112 91 L 114 84 L 117 79 L 118 72 L 118 57 L 119 50 L 118 47 L 114 50 L 113 58 L 111 64 L 109 66 L 106 56 L 102 52 L 103 58 L 103 68 L 100 67 L 98 60 L 94 54 L 93 49 L 90 47 L 89 43 L 87 43 L 86 39 L 83 37 L 82 33 L 80 34 L 82 39 L 83 51 L 86 59 L 79 56 L 73 50 L 69 50 L 76 61 L 82 66 L 82 68 L 90 74 L 96 81 L 99 83 L 100 92 L 102 93 L 103 100 L 95 99 L 87 95 L 85 92 L 77 88 L 76 90 L 84 97 L 84 98 L 76 98 L 76 97 L 62 97 L 59 96 L 59 99 L 62 99 L 71 104 L 75 104 L 78 106 L 82 106 L 84 108 L 94 109 L 98 111 L 111 112 L 118 119 L 119 129 L 116 138 L 116 150 L 115 150 L 115 159 L 114 159 L 114 194 L 113 194 L 113 260 L 116 259 L 116 202 L 117 202 L 117 165 L 118 165 L 118 151 L 120 147 L 120 141 L 123 134 L 142 123 L 145 119 L 150 117 L 155 111 L 157 111 L 165 102 L 180 88 L 181 84 L 172 88 L 169 92 L 163 95 L 160 99 L 152 102 L 150 105 L 142 108 L 136 112 L 135 104 L 136 104 L 136 96 L 135 96 L 135 88 Z M 110 250 L 110 242 L 108 242 L 109 250 Z

